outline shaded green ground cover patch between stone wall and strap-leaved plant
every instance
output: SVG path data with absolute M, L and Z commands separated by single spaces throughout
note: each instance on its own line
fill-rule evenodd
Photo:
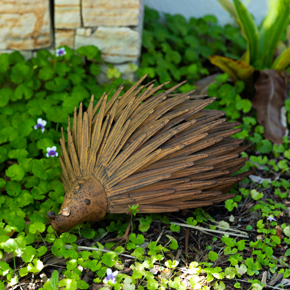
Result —
M 208 57 L 222 53 L 237 57 L 246 49 L 246 41 L 237 27 L 218 26 L 213 15 L 191 18 L 165 15 L 160 19 L 157 11 L 145 7 L 142 57 L 139 77 L 145 73 L 159 83 L 177 84 L 187 80 L 183 90 L 191 90 L 201 77 L 212 73 Z M 215 72 L 217 71 L 214 69 Z

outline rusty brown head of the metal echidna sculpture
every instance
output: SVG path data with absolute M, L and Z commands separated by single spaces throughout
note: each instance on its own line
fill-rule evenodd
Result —
M 81 222 L 97 222 L 107 210 L 107 198 L 102 184 L 93 176 L 77 180 L 64 196 L 57 215 L 49 211 L 46 216 L 56 231 L 67 231 Z

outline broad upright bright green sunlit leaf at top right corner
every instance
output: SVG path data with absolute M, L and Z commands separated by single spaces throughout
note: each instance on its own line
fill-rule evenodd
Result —
M 272 0 L 260 29 L 260 60 L 270 68 L 275 48 L 289 21 L 290 0 Z

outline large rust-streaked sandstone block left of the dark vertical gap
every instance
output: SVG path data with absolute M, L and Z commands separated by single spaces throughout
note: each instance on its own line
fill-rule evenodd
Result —
M 51 45 L 49 0 L 0 0 L 0 49 L 33 50 Z

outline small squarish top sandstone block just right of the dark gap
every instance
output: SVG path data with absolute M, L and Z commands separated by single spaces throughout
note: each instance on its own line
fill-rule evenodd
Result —
M 55 0 L 55 28 L 77 28 L 81 26 L 80 0 Z

